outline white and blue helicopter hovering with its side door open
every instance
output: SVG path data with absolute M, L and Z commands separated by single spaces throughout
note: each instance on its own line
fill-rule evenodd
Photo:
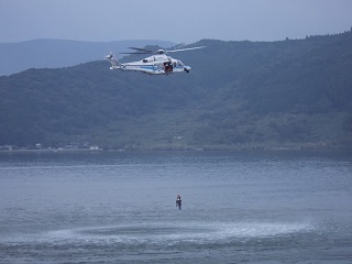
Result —
M 150 57 L 143 58 L 139 62 L 120 63 L 112 53 L 106 58 L 111 63 L 110 69 L 133 70 L 142 72 L 147 75 L 169 75 L 175 73 L 189 73 L 190 67 L 184 65 L 179 59 L 167 56 L 167 53 L 185 52 L 191 50 L 204 48 L 205 46 L 188 47 L 180 50 L 157 50 L 151 51 L 146 48 L 129 47 L 134 50 L 133 53 L 120 53 L 120 54 L 155 54 Z

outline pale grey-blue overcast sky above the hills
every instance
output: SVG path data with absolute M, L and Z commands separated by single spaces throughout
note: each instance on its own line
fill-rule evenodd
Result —
M 0 0 L 0 42 L 278 41 L 351 26 L 352 0 Z

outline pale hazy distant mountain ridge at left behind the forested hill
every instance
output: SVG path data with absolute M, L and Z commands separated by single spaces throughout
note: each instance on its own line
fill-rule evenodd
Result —
M 29 68 L 61 68 L 103 59 L 110 52 L 125 52 L 129 46 L 144 47 L 176 45 L 168 41 L 135 40 L 114 42 L 84 42 L 69 40 L 33 40 L 0 43 L 0 76 Z

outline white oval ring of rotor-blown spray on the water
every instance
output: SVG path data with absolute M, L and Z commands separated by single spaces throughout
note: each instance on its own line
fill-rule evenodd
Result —
M 305 233 L 315 229 L 308 222 L 160 222 L 46 231 L 15 239 L 18 243 L 175 245 L 178 243 L 231 243 L 250 239 Z M 10 242 L 10 241 L 8 241 Z

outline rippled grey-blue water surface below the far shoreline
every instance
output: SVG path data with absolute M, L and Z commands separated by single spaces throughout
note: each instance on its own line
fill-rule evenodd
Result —
M 0 263 L 352 263 L 352 153 L 0 153 Z

